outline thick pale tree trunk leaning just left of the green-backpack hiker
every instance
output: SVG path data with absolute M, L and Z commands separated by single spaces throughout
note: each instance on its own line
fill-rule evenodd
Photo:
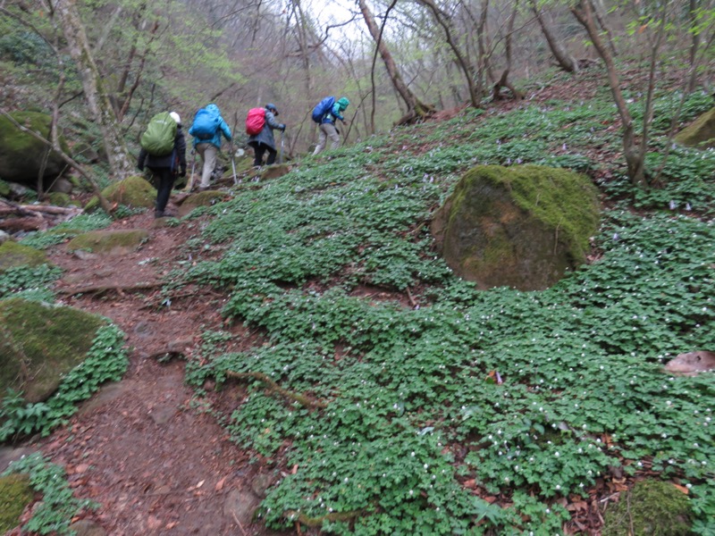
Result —
M 109 100 L 97 64 L 92 58 L 87 34 L 80 21 L 75 0 L 55 0 L 53 8 L 59 17 L 71 58 L 77 64 L 82 88 L 92 114 L 105 142 L 105 151 L 114 179 L 122 180 L 133 174 L 134 166 L 122 138 L 114 108 Z

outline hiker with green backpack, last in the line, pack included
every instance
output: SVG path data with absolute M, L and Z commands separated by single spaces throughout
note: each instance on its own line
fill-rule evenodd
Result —
M 186 177 L 186 139 L 181 130 L 181 118 L 176 112 L 157 113 L 140 139 L 141 151 L 137 167 L 149 168 L 156 179 L 155 218 L 172 215 L 166 211 L 173 182 L 177 175 Z

